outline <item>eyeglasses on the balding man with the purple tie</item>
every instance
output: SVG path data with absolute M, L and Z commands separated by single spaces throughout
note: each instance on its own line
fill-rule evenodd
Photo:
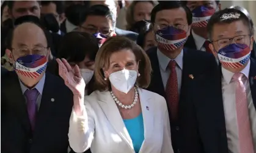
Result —
M 12 50 L 15 50 L 19 56 L 24 56 L 29 54 L 29 51 L 32 51 L 33 54 L 38 54 L 38 55 L 45 55 L 46 49 L 49 49 L 49 47 L 35 47 L 35 48 L 26 48 L 26 47 L 21 47 L 21 48 L 12 48 Z

